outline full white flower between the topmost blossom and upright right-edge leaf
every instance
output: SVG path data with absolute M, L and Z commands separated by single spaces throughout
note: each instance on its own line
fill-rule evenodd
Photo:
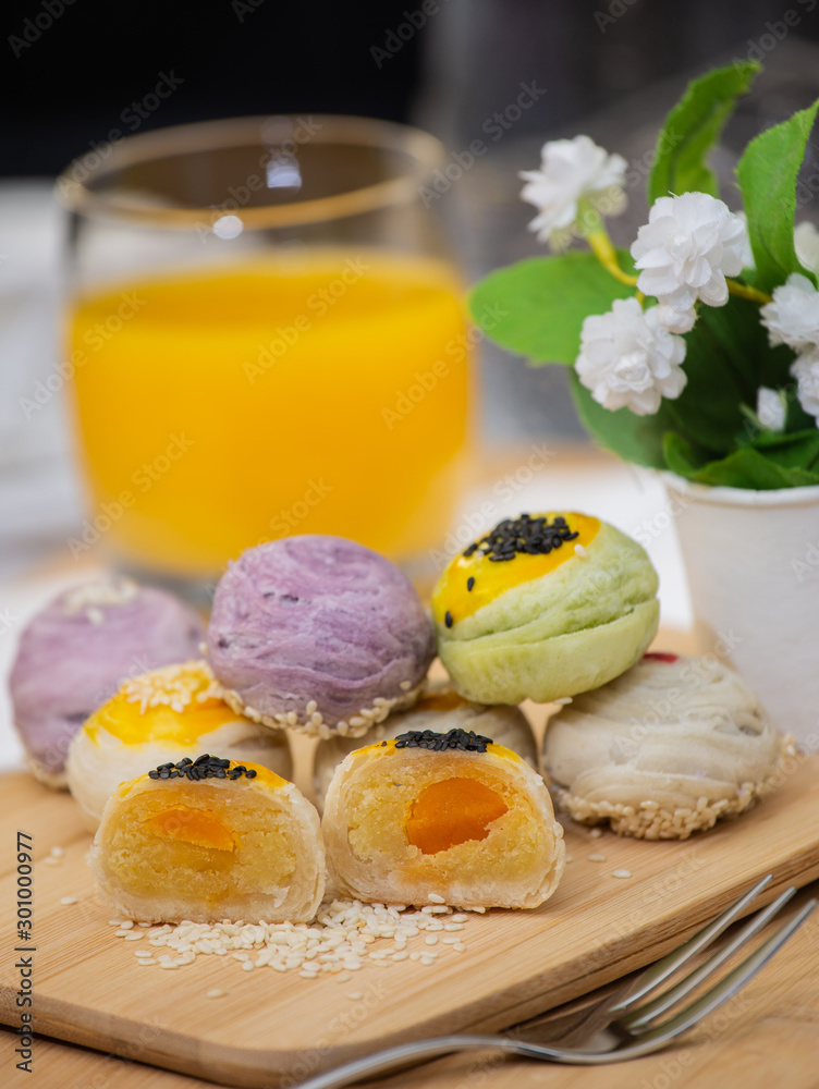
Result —
M 742 272 L 747 233 L 728 205 L 707 193 L 659 197 L 632 245 L 643 269 L 637 286 L 674 310 L 687 310 L 697 298 L 724 306 L 725 277 Z

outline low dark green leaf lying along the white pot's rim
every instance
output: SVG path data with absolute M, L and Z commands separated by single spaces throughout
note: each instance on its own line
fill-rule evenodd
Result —
M 771 491 L 777 488 L 800 488 L 819 484 L 819 472 L 800 465 L 782 464 L 770 453 L 745 446 L 728 457 L 701 464 L 692 448 L 679 435 L 663 438 L 665 462 L 672 473 L 711 487 L 751 488 Z

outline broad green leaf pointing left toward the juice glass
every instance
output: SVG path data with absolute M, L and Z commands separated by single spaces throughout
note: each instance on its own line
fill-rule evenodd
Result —
M 624 268 L 631 258 L 618 257 Z M 491 272 L 469 296 L 469 310 L 490 340 L 533 363 L 573 364 L 583 321 L 606 314 L 634 287 L 615 280 L 594 254 L 534 257 Z

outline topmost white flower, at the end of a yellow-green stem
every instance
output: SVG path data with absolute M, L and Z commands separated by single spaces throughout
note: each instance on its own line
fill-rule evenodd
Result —
M 578 203 L 585 199 L 601 216 L 616 216 L 625 208 L 626 161 L 609 155 L 588 136 L 553 139 L 543 144 L 540 170 L 523 170 L 521 197 L 539 215 L 529 223 L 539 242 L 565 247 L 576 227 Z

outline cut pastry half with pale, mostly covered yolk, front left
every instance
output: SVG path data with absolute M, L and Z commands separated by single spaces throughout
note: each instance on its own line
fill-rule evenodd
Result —
M 209 755 L 122 783 L 89 862 L 106 903 L 143 922 L 307 922 L 325 891 L 309 802 L 260 764 Z

